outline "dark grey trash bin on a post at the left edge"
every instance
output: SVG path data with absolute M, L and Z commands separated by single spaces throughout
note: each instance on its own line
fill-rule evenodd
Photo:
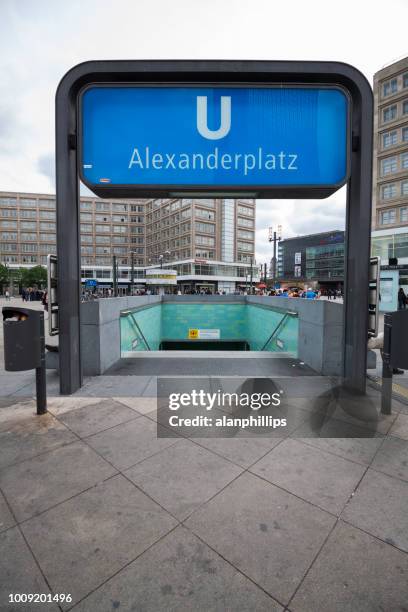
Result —
M 44 313 L 3 307 L 4 369 L 36 370 L 37 414 L 47 412 Z

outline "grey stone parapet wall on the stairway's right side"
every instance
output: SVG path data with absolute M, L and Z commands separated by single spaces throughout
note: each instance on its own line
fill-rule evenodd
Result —
M 298 313 L 298 358 L 325 376 L 343 370 L 343 305 L 326 300 L 248 296 L 249 303 Z

